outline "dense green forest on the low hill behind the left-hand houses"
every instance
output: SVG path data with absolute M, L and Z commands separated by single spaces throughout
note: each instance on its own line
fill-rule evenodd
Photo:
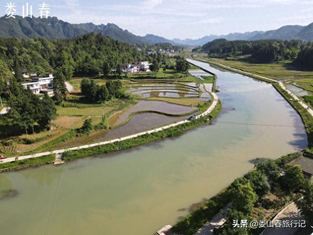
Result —
M 24 67 L 28 73 L 52 72 L 67 67 L 70 74 L 98 74 L 103 65 L 111 68 L 118 64 L 143 59 L 143 52 L 126 43 L 114 41 L 101 34 L 86 34 L 73 39 L 48 41 L 43 38 L 21 40 L 0 39 L 0 63 L 6 70 Z M 0 71 L 1 72 L 1 71 Z

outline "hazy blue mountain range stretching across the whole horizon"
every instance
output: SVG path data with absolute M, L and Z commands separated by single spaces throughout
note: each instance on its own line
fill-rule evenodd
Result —
M 147 34 L 146 36 L 137 36 L 128 30 L 123 30 L 116 24 L 70 24 L 59 20 L 56 17 L 40 19 L 36 17 L 6 19 L 6 16 L 0 17 L 0 37 L 17 37 L 23 39 L 44 37 L 46 39 L 65 39 L 76 37 L 82 34 L 95 32 L 102 33 L 114 40 L 136 45 L 151 45 L 156 43 L 171 43 L 173 45 L 202 46 L 203 44 L 218 38 L 227 40 L 260 40 L 260 39 L 301 39 L 304 41 L 313 41 L 313 23 L 307 26 L 286 25 L 276 30 L 253 31 L 246 33 L 230 33 L 227 35 L 209 35 L 200 39 L 173 39 Z

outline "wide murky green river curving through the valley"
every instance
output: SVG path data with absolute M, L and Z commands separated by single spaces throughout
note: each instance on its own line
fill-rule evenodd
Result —
M 151 235 L 252 169 L 255 158 L 307 146 L 301 118 L 270 84 L 193 63 L 218 77 L 223 111 L 212 125 L 126 151 L 1 173 L 1 234 Z

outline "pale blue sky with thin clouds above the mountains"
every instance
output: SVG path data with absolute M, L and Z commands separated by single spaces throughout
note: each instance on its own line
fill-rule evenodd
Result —
M 17 14 L 28 1 L 39 15 L 43 0 L 12 0 Z M 44 0 L 50 16 L 69 23 L 117 24 L 144 36 L 198 39 L 206 35 L 277 29 L 313 22 L 313 0 Z M 0 0 L 4 15 L 8 0 Z M 1 9 L 1 8 L 0 8 Z

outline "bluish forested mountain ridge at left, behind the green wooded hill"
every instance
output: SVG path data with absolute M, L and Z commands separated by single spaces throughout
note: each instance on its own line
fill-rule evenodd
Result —
M 30 39 L 43 37 L 45 39 L 65 39 L 80 36 L 89 32 L 101 33 L 120 42 L 129 44 L 153 44 L 144 37 L 136 36 L 127 30 L 123 30 L 115 24 L 70 24 L 56 17 L 40 19 L 39 17 L 5 19 L 0 17 L 0 37 L 16 37 Z

